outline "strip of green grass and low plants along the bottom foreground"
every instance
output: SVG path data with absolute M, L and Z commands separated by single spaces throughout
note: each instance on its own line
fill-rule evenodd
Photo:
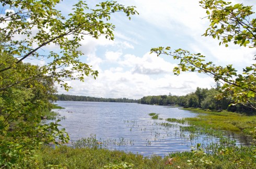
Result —
M 133 168 L 255 168 L 255 149 L 251 147 L 227 148 L 214 154 L 173 152 L 165 158 L 110 151 L 106 149 L 43 146 L 34 161 L 22 161 L 21 168 L 108 168 L 130 164 Z M 167 163 L 171 159 L 171 163 Z M 188 160 L 192 161 L 188 162 Z M 211 163 L 207 163 L 211 162 Z M 191 163 L 191 164 L 190 164 Z M 124 166 L 124 165 L 122 165 Z M 114 168 L 114 167 L 109 167 Z M 125 168 L 125 167 L 120 167 Z

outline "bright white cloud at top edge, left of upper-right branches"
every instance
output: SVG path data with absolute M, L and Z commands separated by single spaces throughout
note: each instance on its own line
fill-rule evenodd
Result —
M 165 29 L 174 29 L 186 34 L 202 32 L 207 22 L 205 10 L 198 1 L 130 1 L 139 11 L 139 16 L 149 23 Z

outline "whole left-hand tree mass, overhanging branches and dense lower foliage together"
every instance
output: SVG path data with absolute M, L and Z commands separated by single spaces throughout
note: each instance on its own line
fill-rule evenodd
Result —
M 60 0 L 4 0 L 0 15 L 0 168 L 13 167 L 28 160 L 42 143 L 59 138 L 67 142 L 57 122 L 41 123 L 51 108 L 54 83 L 66 90 L 65 80 L 97 77 L 98 71 L 79 60 L 80 41 L 87 36 L 113 40 L 113 13 L 127 17 L 137 14 L 135 7 L 107 1 L 89 8 L 79 1 L 72 13 L 63 16 L 55 7 Z M 54 50 L 49 51 L 48 46 Z M 48 62 L 42 67 L 25 64 L 30 59 Z

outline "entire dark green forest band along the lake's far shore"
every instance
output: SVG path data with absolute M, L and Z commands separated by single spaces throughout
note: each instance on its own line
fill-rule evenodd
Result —
M 55 94 L 59 101 L 89 101 L 89 102 L 122 102 L 122 103 L 139 103 L 139 104 L 152 104 L 152 105 L 178 105 L 183 107 L 202 108 L 204 110 L 227 110 L 231 112 L 255 114 L 256 112 L 245 105 L 233 104 L 231 99 L 223 98 L 217 99 L 219 94 L 218 87 L 216 88 L 199 88 L 195 92 L 187 95 L 153 95 L 144 96 L 139 100 L 127 98 L 96 98 L 91 96 L 78 96 L 69 94 Z

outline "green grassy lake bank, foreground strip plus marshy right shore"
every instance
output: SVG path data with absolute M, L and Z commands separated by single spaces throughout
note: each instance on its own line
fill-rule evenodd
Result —
M 255 116 L 195 109 L 190 109 L 190 111 L 200 114 L 195 117 L 170 117 L 166 121 L 168 124 L 189 124 L 181 126 L 181 130 L 189 131 L 190 137 L 197 134 L 221 137 L 224 130 L 243 132 L 250 136 L 255 134 L 255 132 L 250 132 L 255 130 Z M 153 117 L 157 114 L 149 115 Z M 163 124 L 168 127 L 167 123 Z M 219 143 L 212 143 L 204 148 L 197 144 L 198 147 L 191 148 L 192 151 L 170 152 L 165 157 L 158 155 L 147 157 L 102 149 L 97 139 L 90 139 L 92 146 L 84 148 L 42 147 L 37 152 L 36 163 L 22 162 L 20 166 L 26 168 L 256 168 L 256 149 L 253 144 L 237 146 L 225 138 L 220 139 Z

